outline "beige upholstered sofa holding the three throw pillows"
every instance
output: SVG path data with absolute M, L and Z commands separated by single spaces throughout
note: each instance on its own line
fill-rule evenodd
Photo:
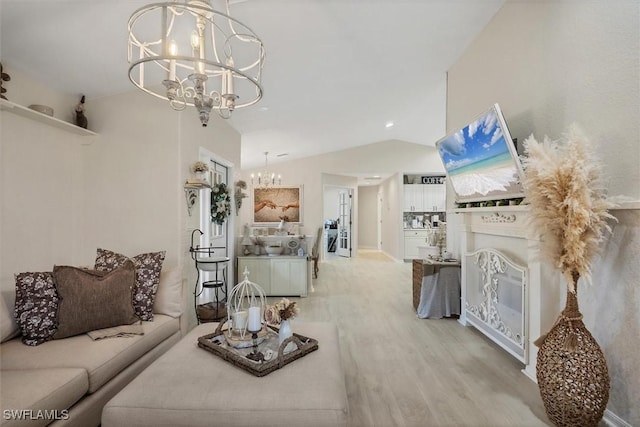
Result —
M 98 426 L 105 403 L 179 341 L 182 282 L 181 271 L 162 271 L 153 320 L 142 322 L 143 335 L 93 341 L 83 334 L 35 347 L 16 336 L 15 295 L 3 293 L 1 425 Z

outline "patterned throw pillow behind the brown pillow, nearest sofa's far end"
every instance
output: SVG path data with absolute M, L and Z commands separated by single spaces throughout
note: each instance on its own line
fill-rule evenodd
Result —
M 140 320 L 153 320 L 153 302 L 160 283 L 160 270 L 166 252 L 150 252 L 136 255 L 131 260 L 136 268 L 136 286 L 133 290 L 133 306 Z M 107 249 L 98 248 L 95 269 L 112 271 L 124 265 L 129 258 Z

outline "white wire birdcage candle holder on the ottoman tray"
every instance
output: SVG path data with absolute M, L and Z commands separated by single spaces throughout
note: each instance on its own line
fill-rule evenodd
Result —
M 227 299 L 227 324 L 232 337 L 251 340 L 251 334 L 263 328 L 266 297 L 262 287 L 249 280 L 247 268 L 242 275 Z

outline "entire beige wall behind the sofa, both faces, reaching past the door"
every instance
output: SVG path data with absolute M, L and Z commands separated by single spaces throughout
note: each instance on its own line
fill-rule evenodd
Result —
M 26 105 L 37 99 L 58 106 L 56 111 L 73 111 L 76 96 L 7 69 L 16 92 L 12 101 Z M 92 265 L 97 247 L 128 255 L 166 250 L 165 267 L 184 267 L 186 319 L 193 325 L 189 296 L 195 269 L 188 248 L 199 217 L 198 206 L 193 216 L 187 214 L 183 184 L 200 147 L 240 164 L 240 135 L 214 115 L 202 128 L 192 108 L 176 112 L 136 90 L 90 100 L 86 110 L 98 136 L 80 137 L 0 113 L 2 289 L 11 290 L 13 274 L 21 271 Z

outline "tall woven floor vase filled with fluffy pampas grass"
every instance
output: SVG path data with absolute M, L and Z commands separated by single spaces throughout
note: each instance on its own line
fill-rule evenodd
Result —
M 549 419 L 557 426 L 597 426 L 609 400 L 609 373 L 600 346 L 582 322 L 578 280 L 590 264 L 613 217 L 590 143 L 572 126 L 562 143 L 525 140 L 525 201 L 541 236 L 541 255 L 562 271 L 566 305 L 539 346 L 536 377 Z

